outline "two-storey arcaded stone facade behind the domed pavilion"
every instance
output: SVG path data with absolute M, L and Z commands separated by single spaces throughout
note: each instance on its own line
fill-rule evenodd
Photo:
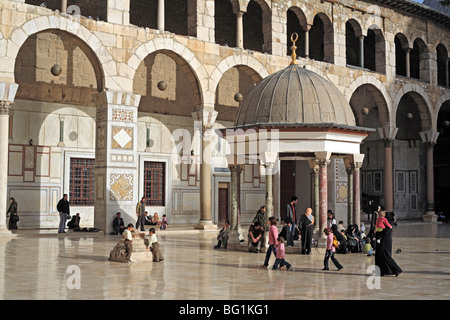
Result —
M 68 163 L 80 157 L 96 161 L 96 206 L 100 208 L 94 219 L 93 205 L 74 207 L 73 212 L 82 215 L 82 224 L 101 221 L 97 227 L 108 228 L 108 219 L 112 221 L 116 211 L 124 211 L 127 222 L 134 222 L 134 206 L 144 192 L 146 161 L 165 164 L 165 205 L 150 207 L 149 212 L 167 214 L 170 223 L 196 223 L 201 181 L 196 159 L 202 143 L 201 128 L 195 130 L 191 114 L 216 110 L 213 128 L 231 126 L 239 107 L 234 95 L 245 95 L 259 80 L 289 64 L 288 29 L 302 34 L 299 64 L 341 90 L 358 125 L 399 127 L 400 137 L 409 137 L 403 131 L 414 128 L 413 138 L 392 139 L 393 209 L 400 218 L 425 213 L 430 199 L 426 196 L 426 148 L 419 132 L 438 131 L 439 111 L 450 100 L 448 55 L 443 60 L 441 53 L 438 59 L 437 49 L 450 50 L 450 18 L 435 22 L 382 1 L 378 5 L 377 1 L 350 0 L 165 1 L 165 10 L 159 12 L 161 0 L 96 1 L 95 8 L 86 0 L 77 2 L 80 16 L 55 11 L 58 1 L 47 1 L 48 8 L 38 2 L 0 4 L 0 83 L 19 85 L 9 111 L 4 149 L 9 155 L 7 197 L 18 200 L 23 227 L 57 226 L 56 203 L 69 193 L 71 184 Z M 310 42 L 304 42 L 307 37 Z M 363 39 L 365 50 L 355 47 L 361 42 L 349 41 L 351 37 Z M 350 46 L 359 60 L 347 59 Z M 401 59 L 400 48 L 410 54 L 408 62 Z M 362 65 L 353 66 L 361 60 Z M 446 66 L 442 68 L 438 60 Z M 62 67 L 59 76 L 50 73 L 55 64 Z M 398 75 L 400 67 L 409 64 L 409 76 Z M 160 81 L 167 83 L 167 89 L 158 88 Z M 109 103 L 106 99 L 99 104 L 99 97 L 117 95 L 124 100 Z M 410 114 L 414 126 L 402 120 Z M 189 164 L 176 161 L 178 141 L 173 136 L 180 129 L 192 138 Z M 119 133 L 121 138 L 114 139 Z M 212 139 L 217 142 L 213 158 L 223 160 L 223 141 Z M 366 155 L 362 192 L 381 203 L 383 149 L 378 133 L 361 147 Z M 343 164 L 332 161 L 328 207 L 345 220 Z M 304 171 L 309 175 L 309 169 Z M 265 178 L 258 164 L 245 165 L 242 177 L 241 213 L 242 222 L 247 222 L 264 203 Z M 218 186 L 230 181 L 225 161 L 212 166 L 209 179 L 211 215 L 217 223 Z M 116 186 L 118 181 L 121 187 Z M 132 192 L 124 192 L 127 183 Z M 277 179 L 274 188 L 278 211 L 282 204 Z

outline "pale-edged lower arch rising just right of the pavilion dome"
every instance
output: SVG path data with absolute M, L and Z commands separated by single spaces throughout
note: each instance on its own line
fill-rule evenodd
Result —
M 392 123 L 392 116 L 389 111 L 392 110 L 391 97 L 384 84 L 373 76 L 360 76 L 356 78 L 344 92 L 344 95 L 349 101 L 353 113 L 355 114 L 357 125 L 362 126 L 361 121 L 364 117 L 362 109 L 364 108 L 364 105 L 352 104 L 352 99 L 355 97 L 357 91 L 360 92 L 361 89 L 367 91 L 366 99 L 372 97 L 373 102 L 378 109 L 379 126 L 390 126 Z M 363 95 L 364 94 L 365 93 L 363 92 Z M 368 111 L 370 111 L 370 108 Z

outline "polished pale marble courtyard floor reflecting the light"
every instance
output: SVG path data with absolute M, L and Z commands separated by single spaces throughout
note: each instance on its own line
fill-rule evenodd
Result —
M 107 260 L 118 236 L 18 230 L 0 238 L 0 299 L 450 299 L 450 224 L 401 221 L 393 258 L 404 272 L 378 279 L 362 253 L 337 255 L 339 272 L 321 270 L 322 253 L 288 254 L 279 271 L 260 267 L 262 253 L 214 250 L 216 235 L 158 231 L 163 262 L 124 264 Z

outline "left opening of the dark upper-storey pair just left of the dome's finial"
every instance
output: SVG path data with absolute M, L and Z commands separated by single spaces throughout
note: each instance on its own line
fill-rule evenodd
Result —
M 230 0 L 214 1 L 214 25 L 216 43 L 236 47 L 236 15 Z

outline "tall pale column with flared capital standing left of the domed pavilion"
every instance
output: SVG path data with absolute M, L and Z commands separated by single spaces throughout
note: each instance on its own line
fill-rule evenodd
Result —
M 212 126 L 216 121 L 217 111 L 200 110 L 192 113 L 194 120 L 201 124 L 202 128 L 202 160 L 200 163 L 200 220 L 194 226 L 195 229 L 216 229 L 212 222 L 212 174 L 211 174 L 211 134 Z

